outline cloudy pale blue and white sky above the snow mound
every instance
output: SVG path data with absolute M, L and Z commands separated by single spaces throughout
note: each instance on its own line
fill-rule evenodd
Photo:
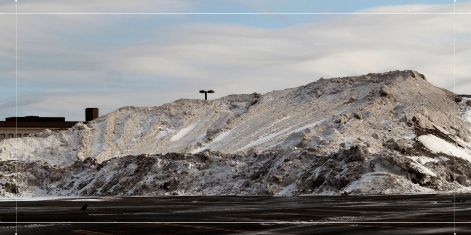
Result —
M 19 13 L 454 12 L 452 0 L 18 0 Z M 454 14 L 18 14 L 0 0 L 0 120 L 83 121 L 124 106 L 267 93 L 415 70 L 455 91 Z M 469 1 L 456 12 L 470 13 Z M 471 94 L 471 14 L 456 15 L 456 93 Z M 16 83 L 16 106 L 15 106 Z

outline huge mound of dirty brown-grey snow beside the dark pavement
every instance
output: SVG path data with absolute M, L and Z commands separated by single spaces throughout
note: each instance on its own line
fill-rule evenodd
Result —
M 405 70 L 123 107 L 1 141 L 1 195 L 13 195 L 15 141 L 24 197 L 446 191 L 454 133 L 457 175 L 471 174 L 469 100 L 455 126 L 453 93 Z

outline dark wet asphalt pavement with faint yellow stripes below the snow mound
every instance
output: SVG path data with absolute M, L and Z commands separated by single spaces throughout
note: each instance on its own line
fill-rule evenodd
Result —
M 471 234 L 471 195 L 457 195 L 456 234 Z M 18 201 L 19 235 L 446 234 L 454 195 L 120 197 Z M 86 212 L 80 208 L 88 204 Z M 0 235 L 15 234 L 0 203 Z M 47 223 L 45 223 L 47 222 Z

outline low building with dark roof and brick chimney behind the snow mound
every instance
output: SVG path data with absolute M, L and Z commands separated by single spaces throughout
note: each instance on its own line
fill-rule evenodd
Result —
M 87 112 L 91 110 L 92 116 L 88 120 Z M 87 108 L 85 109 L 85 116 L 87 121 L 91 121 L 98 118 L 98 108 Z M 41 132 L 44 129 L 52 131 L 67 130 L 74 126 L 78 121 L 66 121 L 66 118 L 49 118 L 39 116 L 26 116 L 26 117 L 15 117 L 5 118 L 4 121 L 0 121 L 0 140 L 9 138 L 20 138 L 30 134 Z M 15 131 L 16 126 L 16 131 Z

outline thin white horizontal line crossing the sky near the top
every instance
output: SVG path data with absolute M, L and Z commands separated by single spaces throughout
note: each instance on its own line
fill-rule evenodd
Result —
M 91 15 L 116 15 L 116 14 L 141 14 L 141 15 L 394 15 L 394 14 L 422 14 L 422 15 L 440 15 L 440 14 L 471 14 L 471 12 L 3 12 L 1 14 L 91 14 Z

